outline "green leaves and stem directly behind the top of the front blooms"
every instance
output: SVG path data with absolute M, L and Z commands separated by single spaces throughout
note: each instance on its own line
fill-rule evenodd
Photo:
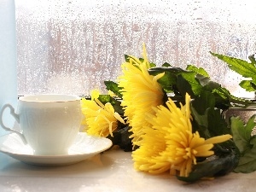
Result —
M 151 75 L 165 73 L 158 82 L 167 93 L 174 93 L 175 96 L 184 98 L 185 93 L 189 93 L 191 98 L 194 99 L 197 96 L 201 96 L 204 92 L 209 92 L 215 97 L 215 107 L 220 109 L 236 105 L 247 107 L 250 103 L 249 101 L 232 96 L 229 90 L 223 88 L 221 84 L 212 81 L 204 69 L 191 65 L 187 69 L 183 70 L 179 67 L 153 67 L 148 69 L 148 73 Z

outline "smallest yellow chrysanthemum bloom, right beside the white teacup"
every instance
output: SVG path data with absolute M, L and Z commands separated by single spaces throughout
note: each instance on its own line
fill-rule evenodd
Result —
M 119 113 L 114 112 L 113 106 L 110 103 L 102 104 L 98 100 L 99 91 L 91 92 L 91 100 L 82 99 L 81 108 L 84 114 L 82 125 L 85 125 L 84 131 L 90 135 L 108 137 L 110 134 L 113 137 L 113 131 L 118 126 L 118 120 L 125 124 Z

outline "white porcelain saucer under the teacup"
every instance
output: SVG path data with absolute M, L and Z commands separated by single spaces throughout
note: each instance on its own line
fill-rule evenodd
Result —
M 86 160 L 112 146 L 111 140 L 105 137 L 92 137 L 79 132 L 75 142 L 65 155 L 34 155 L 32 148 L 25 145 L 15 134 L 0 137 L 0 152 L 16 160 L 39 166 L 65 166 Z

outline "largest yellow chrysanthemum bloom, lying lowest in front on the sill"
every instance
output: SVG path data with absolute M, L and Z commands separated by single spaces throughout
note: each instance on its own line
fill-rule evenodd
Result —
M 208 157 L 214 143 L 223 143 L 230 135 L 212 137 L 207 140 L 196 131 L 192 133 L 189 109 L 190 96 L 186 95 L 186 105 L 176 104 L 169 99 L 166 107 L 154 108 L 155 115 L 148 116 L 151 124 L 143 135 L 141 146 L 132 153 L 137 170 L 160 173 L 170 170 L 172 174 L 188 177 L 196 157 Z

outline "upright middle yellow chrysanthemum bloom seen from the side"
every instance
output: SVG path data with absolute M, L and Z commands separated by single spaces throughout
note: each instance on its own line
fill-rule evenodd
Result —
M 131 125 L 132 143 L 138 144 L 143 135 L 143 127 L 148 125 L 145 120 L 145 113 L 154 114 L 154 109 L 163 103 L 164 92 L 158 84 L 164 73 L 157 76 L 149 75 L 150 67 L 143 45 L 144 61 L 139 61 L 136 57 L 130 58 L 130 62 L 122 64 L 123 75 L 119 77 L 119 87 L 122 88 L 123 102 L 129 125 Z

